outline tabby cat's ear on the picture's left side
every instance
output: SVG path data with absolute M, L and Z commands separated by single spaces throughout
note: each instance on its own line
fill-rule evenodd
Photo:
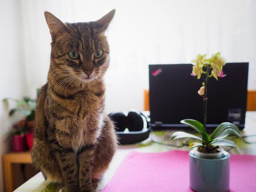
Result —
M 63 32 L 67 26 L 50 12 L 45 12 L 45 20 L 53 37 L 58 32 Z

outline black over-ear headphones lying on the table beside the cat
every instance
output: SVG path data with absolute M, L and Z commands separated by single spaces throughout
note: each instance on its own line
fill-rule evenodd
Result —
M 149 137 L 149 122 L 143 113 L 132 111 L 126 116 L 123 112 L 114 112 L 110 113 L 109 117 L 114 122 L 119 144 L 135 144 Z M 146 129 L 143 129 L 144 122 Z M 129 132 L 125 132 L 126 128 Z

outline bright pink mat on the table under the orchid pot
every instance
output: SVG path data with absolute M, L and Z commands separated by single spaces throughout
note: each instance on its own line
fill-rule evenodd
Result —
M 230 166 L 229 192 L 256 192 L 256 156 L 231 155 Z M 193 192 L 188 152 L 131 152 L 102 192 Z

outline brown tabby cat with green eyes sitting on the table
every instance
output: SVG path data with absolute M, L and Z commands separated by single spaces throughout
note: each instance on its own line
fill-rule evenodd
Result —
M 64 24 L 45 12 L 51 63 L 37 101 L 32 159 L 59 191 L 94 192 L 117 148 L 103 82 L 110 52 L 104 32 L 114 13 Z

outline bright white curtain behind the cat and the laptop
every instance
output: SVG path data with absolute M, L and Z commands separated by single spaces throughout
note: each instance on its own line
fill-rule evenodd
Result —
M 28 95 L 46 83 L 49 69 L 44 11 L 64 22 L 83 22 L 113 8 L 116 15 L 106 32 L 106 112 L 143 110 L 148 64 L 190 63 L 198 53 L 221 52 L 228 62 L 250 62 L 248 88 L 256 89 L 255 0 L 21 0 L 20 8 Z

